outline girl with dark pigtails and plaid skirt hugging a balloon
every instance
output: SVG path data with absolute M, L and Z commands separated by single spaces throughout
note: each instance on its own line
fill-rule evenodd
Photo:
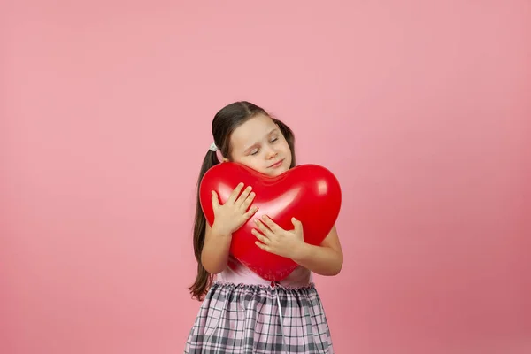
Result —
M 234 161 L 271 176 L 295 166 L 291 129 L 249 102 L 228 104 L 212 121 L 214 143 L 204 157 L 204 173 L 222 161 Z M 304 242 L 304 225 L 292 219 L 284 230 L 266 216 L 255 218 L 257 246 L 293 259 L 296 270 L 280 282 L 251 272 L 229 254 L 232 234 L 252 218 L 251 186 L 238 185 L 225 204 L 212 191 L 214 221 L 204 217 L 197 190 L 194 250 L 197 276 L 189 288 L 204 300 L 185 353 L 333 353 L 327 317 L 312 283 L 312 272 L 335 275 L 342 249 L 335 227 L 320 244 Z

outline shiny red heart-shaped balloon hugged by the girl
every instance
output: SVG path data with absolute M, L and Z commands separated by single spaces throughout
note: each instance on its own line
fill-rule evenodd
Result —
M 304 242 L 319 245 L 339 214 L 342 197 L 339 182 L 319 165 L 298 165 L 270 177 L 245 165 L 224 162 L 204 174 L 199 188 L 201 207 L 209 225 L 214 222 L 212 190 L 218 193 L 219 203 L 225 204 L 239 182 L 251 186 L 256 193 L 251 205 L 258 206 L 258 212 L 233 234 L 230 252 L 267 281 L 281 281 L 297 265 L 255 244 L 258 239 L 250 232 L 257 228 L 254 219 L 267 215 L 283 229 L 292 230 L 294 217 L 303 224 Z

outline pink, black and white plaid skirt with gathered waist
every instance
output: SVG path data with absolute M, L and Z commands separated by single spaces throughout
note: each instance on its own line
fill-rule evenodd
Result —
M 184 352 L 329 354 L 334 350 L 313 284 L 288 289 L 214 282 Z

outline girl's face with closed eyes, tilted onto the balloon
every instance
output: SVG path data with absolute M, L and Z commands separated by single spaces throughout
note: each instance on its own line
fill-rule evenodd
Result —
M 278 176 L 289 170 L 291 150 L 273 119 L 264 114 L 247 120 L 230 137 L 231 160 L 259 173 Z

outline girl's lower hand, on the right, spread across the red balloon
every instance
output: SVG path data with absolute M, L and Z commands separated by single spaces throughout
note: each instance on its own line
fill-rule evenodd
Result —
M 255 219 L 260 231 L 252 229 L 252 234 L 257 236 L 259 242 L 255 242 L 259 248 L 274 253 L 281 257 L 296 258 L 304 247 L 303 224 L 291 218 L 293 230 L 284 230 L 264 215 L 263 220 Z

